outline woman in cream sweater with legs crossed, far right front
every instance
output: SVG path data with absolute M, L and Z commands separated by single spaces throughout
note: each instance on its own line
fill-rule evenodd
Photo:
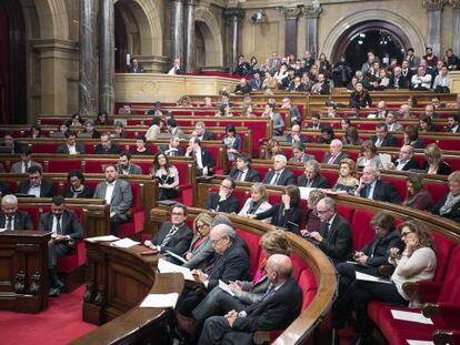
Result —
M 430 232 L 421 222 L 406 221 L 400 226 L 404 250 L 390 250 L 390 263 L 396 268 L 391 275 L 391 284 L 357 281 L 353 292 L 357 331 L 366 343 L 369 336 L 368 303 L 381 301 L 389 304 L 407 306 L 411 301 L 402 290 L 407 282 L 431 281 L 434 276 L 437 257 L 433 251 L 433 240 Z

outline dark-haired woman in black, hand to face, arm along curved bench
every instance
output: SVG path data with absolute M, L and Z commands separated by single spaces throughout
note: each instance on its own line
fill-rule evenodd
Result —
M 288 231 L 300 235 L 300 219 L 302 210 L 300 210 L 300 190 L 297 185 L 287 185 L 281 195 L 281 202 L 266 212 L 252 214 L 250 217 L 256 220 L 264 220 L 271 217 L 271 224 L 284 227 Z

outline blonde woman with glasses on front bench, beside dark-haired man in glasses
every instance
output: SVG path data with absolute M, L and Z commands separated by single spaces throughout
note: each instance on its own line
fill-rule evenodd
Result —
M 193 221 L 194 235 L 189 250 L 183 254 L 187 260 L 182 266 L 199 268 L 204 266 L 214 255 L 214 248 L 209 240 L 212 219 L 208 213 L 200 213 Z

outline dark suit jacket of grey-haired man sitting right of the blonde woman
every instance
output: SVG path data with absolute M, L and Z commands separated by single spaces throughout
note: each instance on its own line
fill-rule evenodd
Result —
M 236 240 L 222 255 L 214 254 L 212 261 L 203 270 L 209 278 L 208 291 L 219 285 L 219 280 L 227 284 L 230 281 L 246 281 L 249 267 L 249 255 Z

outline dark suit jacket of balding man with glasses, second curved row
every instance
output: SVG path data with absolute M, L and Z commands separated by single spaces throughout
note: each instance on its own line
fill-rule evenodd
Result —
M 329 232 L 327 224 L 321 222 L 319 233 L 323 237 L 319 247 L 334 263 L 347 260 L 353 250 L 353 237 L 350 224 L 338 213 L 332 221 Z

